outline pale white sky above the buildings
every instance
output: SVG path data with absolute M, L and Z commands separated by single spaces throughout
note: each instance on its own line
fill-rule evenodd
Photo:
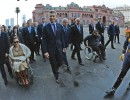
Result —
M 20 8 L 19 24 L 21 24 L 22 15 L 26 15 L 26 20 L 32 18 L 32 11 L 35 9 L 35 5 L 42 3 L 43 5 L 50 4 L 56 6 L 66 6 L 71 2 L 77 3 L 80 7 L 103 5 L 105 4 L 109 8 L 115 8 L 130 4 L 130 0 L 0 0 L 0 24 L 5 24 L 5 19 L 14 18 L 16 22 L 15 8 Z

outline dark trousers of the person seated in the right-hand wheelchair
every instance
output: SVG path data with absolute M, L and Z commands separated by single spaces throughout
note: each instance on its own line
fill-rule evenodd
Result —
M 103 44 L 100 44 L 99 46 L 92 47 L 93 51 L 96 51 L 98 55 L 105 56 L 105 47 Z

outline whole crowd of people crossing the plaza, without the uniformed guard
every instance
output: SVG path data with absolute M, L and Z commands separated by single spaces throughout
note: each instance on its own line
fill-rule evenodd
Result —
M 22 27 L 16 25 L 12 30 L 10 27 L 6 29 L 5 25 L 0 27 L 0 71 L 5 85 L 8 84 L 8 80 L 4 64 L 6 64 L 11 78 L 13 78 L 13 70 L 22 79 L 22 84 L 28 84 L 25 75 L 25 69 L 28 66 L 25 60 L 29 59 L 33 64 L 36 61 L 34 53 L 40 55 L 41 51 L 44 61 L 49 59 L 56 82 L 62 84 L 63 81 L 59 79 L 59 67 L 65 65 L 67 71 L 72 71 L 66 55 L 69 44 L 71 44 L 71 49 L 74 46 L 71 58 L 77 60 L 75 57 L 77 54 L 79 65 L 84 66 L 80 55 L 82 43 L 87 46 L 86 42 L 88 42 L 88 45 L 99 55 L 100 60 L 106 60 L 105 49 L 109 42 L 111 42 L 112 49 L 115 49 L 113 42 L 116 42 L 116 37 L 120 43 L 119 25 L 118 23 L 114 25 L 114 21 L 107 28 L 109 40 L 105 44 L 105 26 L 101 22 L 101 18 L 95 25 L 91 22 L 89 24 L 90 34 L 83 36 L 83 25 L 80 18 L 75 18 L 69 25 L 67 18 L 63 18 L 60 24 L 57 22 L 56 16 L 56 11 L 52 10 L 49 12 L 50 22 L 48 23 L 42 17 L 39 24 L 28 20 L 27 23 L 23 23 Z M 9 58 L 13 61 L 10 61 Z M 11 67 L 12 65 L 13 67 Z

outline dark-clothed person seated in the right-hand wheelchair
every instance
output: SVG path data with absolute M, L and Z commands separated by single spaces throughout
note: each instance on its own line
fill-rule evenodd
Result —
M 98 34 L 97 30 L 94 30 L 92 34 L 85 37 L 84 45 L 88 45 L 93 51 L 96 51 L 100 60 L 106 60 L 105 47 L 103 44 L 101 44 L 101 36 Z

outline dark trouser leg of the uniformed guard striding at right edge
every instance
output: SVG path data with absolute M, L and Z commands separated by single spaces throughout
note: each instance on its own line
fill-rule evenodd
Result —
M 122 68 L 115 84 L 113 85 L 113 88 L 117 89 L 120 86 L 123 78 L 125 77 L 125 75 L 127 74 L 128 70 L 129 70 L 129 68 L 130 68 L 130 64 L 126 63 L 123 65 L 123 68 Z

